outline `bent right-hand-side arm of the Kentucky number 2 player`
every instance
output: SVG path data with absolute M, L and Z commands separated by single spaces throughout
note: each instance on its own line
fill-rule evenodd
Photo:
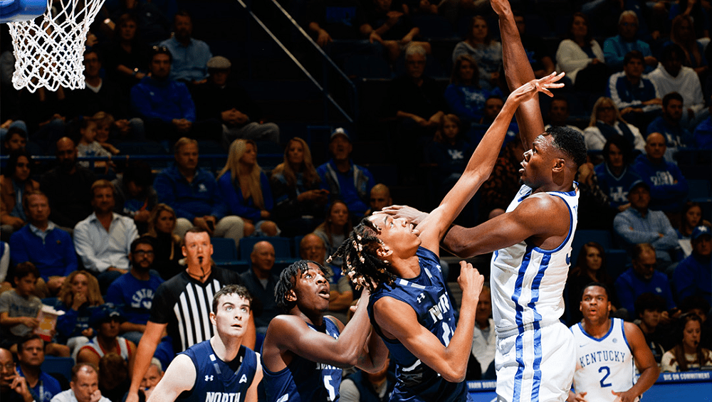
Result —
M 638 367 L 638 371 L 640 371 L 640 377 L 629 390 L 624 392 L 611 392 L 617 395 L 621 402 L 633 402 L 638 396 L 641 396 L 642 393 L 655 384 L 660 374 L 660 369 L 638 326 L 631 322 L 624 322 L 623 325 L 623 331 L 630 345 L 635 364 Z

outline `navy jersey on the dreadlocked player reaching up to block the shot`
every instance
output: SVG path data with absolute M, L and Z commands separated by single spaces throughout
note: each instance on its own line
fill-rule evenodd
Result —
M 455 317 L 440 270 L 439 258 L 431 250 L 418 248 L 420 275 L 413 279 L 398 278 L 393 287 L 378 287 L 368 304 L 368 314 L 376 332 L 381 335 L 391 359 L 396 362 L 397 383 L 391 401 L 467 401 L 464 381 L 451 383 L 423 364 L 397 339 L 383 336 L 373 317 L 373 305 L 382 297 L 393 297 L 407 303 L 418 317 L 418 322 L 447 346 L 455 331 Z

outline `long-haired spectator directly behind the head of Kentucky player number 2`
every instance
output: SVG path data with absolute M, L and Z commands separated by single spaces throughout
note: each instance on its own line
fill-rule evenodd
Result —
M 594 282 L 606 285 L 609 292 L 613 290 L 613 279 L 606 272 L 605 250 L 603 246 L 590 241 L 581 246 L 578 253 L 576 265 L 569 271 L 569 276 L 566 280 L 568 293 L 567 307 L 570 312 L 569 322 L 576 323 L 583 319 L 581 310 L 576 305 L 575 300 L 581 298 L 583 290 Z M 616 311 L 618 305 L 617 297 L 614 294 L 609 295 L 611 302 L 611 312 Z

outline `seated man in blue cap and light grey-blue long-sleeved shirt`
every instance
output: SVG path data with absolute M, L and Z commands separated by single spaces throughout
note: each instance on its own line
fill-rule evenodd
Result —
M 628 201 L 630 208 L 613 220 L 619 244 L 632 254 L 638 244 L 650 243 L 658 262 L 669 265 L 677 247 L 677 234 L 665 213 L 648 208 L 650 186 L 645 181 L 635 181 L 628 189 Z

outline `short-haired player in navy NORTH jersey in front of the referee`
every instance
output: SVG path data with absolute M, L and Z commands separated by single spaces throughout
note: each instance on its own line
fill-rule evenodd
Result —
M 210 312 L 217 334 L 178 354 L 148 402 L 256 402 L 262 367 L 257 354 L 241 346 L 251 301 L 243 286 L 219 290 Z

